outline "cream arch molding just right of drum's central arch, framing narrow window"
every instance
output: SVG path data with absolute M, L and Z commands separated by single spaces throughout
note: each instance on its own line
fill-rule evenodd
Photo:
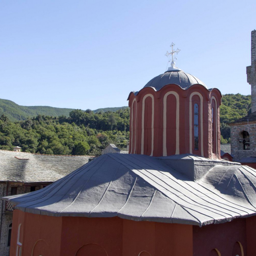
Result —
M 192 97 L 193 96 L 199 96 L 200 98 L 200 130 L 201 130 L 201 134 L 200 134 L 200 138 L 201 138 L 201 156 L 204 156 L 204 122 L 203 122 L 203 103 L 204 103 L 204 99 L 201 93 L 199 92 L 193 92 L 190 97 L 189 97 L 189 151 L 190 154 L 193 154 L 193 150 L 192 150 Z

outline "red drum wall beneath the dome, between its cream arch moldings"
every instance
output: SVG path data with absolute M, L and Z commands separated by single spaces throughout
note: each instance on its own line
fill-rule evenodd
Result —
M 203 98 L 203 113 L 201 113 L 201 101 L 199 96 L 194 95 L 192 101 L 192 153 L 195 155 L 204 156 L 207 158 L 220 159 L 220 124 L 219 124 L 219 106 L 221 104 L 221 94 L 219 90 L 213 89 L 208 91 L 202 85 L 193 85 L 187 90 L 183 90 L 178 85 L 166 85 L 161 90 L 156 92 L 153 88 L 146 87 L 139 91 L 135 96 L 133 93 L 129 96 L 129 107 L 131 108 L 131 119 L 133 113 L 133 127 L 130 126 L 130 153 L 141 154 L 141 134 L 142 134 L 142 111 L 143 111 L 143 98 L 147 94 L 151 94 L 154 98 L 154 149 L 153 156 L 163 156 L 163 122 L 164 122 L 164 96 L 168 92 L 175 92 L 179 96 L 179 153 L 190 153 L 190 96 L 192 93 L 197 92 Z M 212 124 L 211 124 L 211 98 L 216 98 L 217 106 L 217 137 L 214 134 L 214 151 L 212 152 Z M 134 102 L 136 99 L 136 102 Z M 133 103 L 134 102 L 134 103 Z M 133 105 L 132 105 L 133 103 Z M 194 104 L 199 106 L 199 150 L 194 150 Z M 176 153 L 176 97 L 174 95 L 167 96 L 166 103 L 166 144 L 167 155 L 174 155 Z M 150 155 L 151 152 L 151 113 L 152 113 L 152 99 L 147 97 L 145 100 L 145 113 L 144 113 L 144 151 L 143 154 Z M 203 115 L 203 124 L 200 123 L 200 116 Z M 203 148 L 201 148 L 202 136 L 200 134 L 203 128 Z M 136 133 L 136 139 L 135 139 Z M 216 152 L 216 144 L 218 152 Z

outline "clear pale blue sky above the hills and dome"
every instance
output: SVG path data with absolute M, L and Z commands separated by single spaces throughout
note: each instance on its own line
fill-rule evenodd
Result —
M 176 66 L 223 94 L 251 93 L 256 0 L 0 0 L 0 98 L 24 106 L 128 105 Z

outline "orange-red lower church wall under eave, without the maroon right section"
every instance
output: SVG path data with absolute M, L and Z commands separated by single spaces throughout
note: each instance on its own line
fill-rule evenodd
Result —
M 22 223 L 22 255 L 193 255 L 191 225 L 120 218 L 49 217 L 14 210 L 11 256 Z

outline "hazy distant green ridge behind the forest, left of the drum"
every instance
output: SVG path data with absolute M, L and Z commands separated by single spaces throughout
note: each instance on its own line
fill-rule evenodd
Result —
M 120 109 L 125 109 L 128 107 L 118 107 L 118 108 L 104 108 L 93 110 L 96 112 L 107 112 L 107 111 L 117 111 Z M 6 115 L 10 121 L 21 121 L 28 117 L 35 117 L 37 115 L 46 116 L 69 116 L 69 112 L 74 109 L 64 109 L 64 108 L 53 108 L 48 106 L 20 106 L 15 102 L 8 99 L 0 99 L 0 115 Z

